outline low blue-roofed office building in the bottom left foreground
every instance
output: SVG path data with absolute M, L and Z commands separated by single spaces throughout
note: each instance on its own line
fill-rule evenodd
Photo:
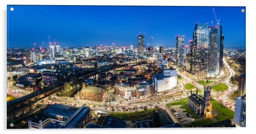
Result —
M 90 109 L 61 104 L 48 105 L 42 114 L 28 118 L 28 128 L 83 128 L 90 120 Z

